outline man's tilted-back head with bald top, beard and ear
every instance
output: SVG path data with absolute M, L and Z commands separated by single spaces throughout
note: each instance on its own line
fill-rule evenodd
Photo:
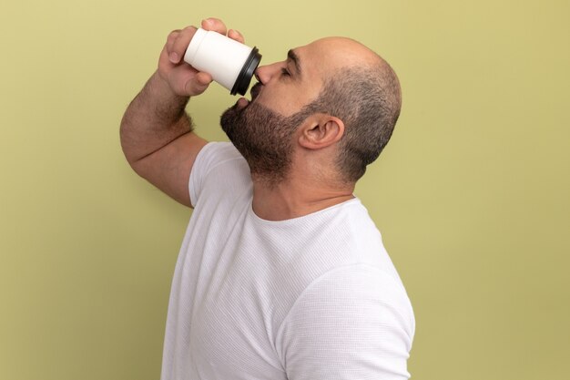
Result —
M 256 77 L 251 102 L 240 99 L 221 124 L 252 174 L 270 180 L 284 179 L 300 161 L 355 182 L 378 158 L 400 114 L 392 68 L 348 38 L 290 50 L 286 60 L 259 67 Z

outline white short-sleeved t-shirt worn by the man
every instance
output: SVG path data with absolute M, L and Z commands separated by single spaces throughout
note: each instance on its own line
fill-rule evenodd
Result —
M 360 200 L 262 220 L 229 143 L 199 152 L 189 191 L 162 380 L 410 376 L 412 305 Z

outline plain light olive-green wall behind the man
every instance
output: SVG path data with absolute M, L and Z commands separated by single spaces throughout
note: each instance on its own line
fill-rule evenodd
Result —
M 568 15 L 520 0 L 3 3 L 0 379 L 158 379 L 190 211 L 129 169 L 118 125 L 168 32 L 208 16 L 263 63 L 351 36 L 401 78 L 402 117 L 357 195 L 412 299 L 412 377 L 565 378 Z M 191 101 L 201 136 L 224 139 L 227 92 Z

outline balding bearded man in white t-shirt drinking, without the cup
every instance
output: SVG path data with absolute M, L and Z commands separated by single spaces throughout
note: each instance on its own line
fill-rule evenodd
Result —
M 291 49 L 222 115 L 231 143 L 208 143 L 185 112 L 212 80 L 181 61 L 195 31 L 169 34 L 121 123 L 132 168 L 194 208 L 162 380 L 408 378 L 412 305 L 353 195 L 400 114 L 392 68 L 348 38 Z

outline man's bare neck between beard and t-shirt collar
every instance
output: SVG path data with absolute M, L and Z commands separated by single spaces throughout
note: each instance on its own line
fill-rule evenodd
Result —
M 253 177 L 253 211 L 267 221 L 285 221 L 354 198 L 354 184 L 289 176 L 279 183 Z

